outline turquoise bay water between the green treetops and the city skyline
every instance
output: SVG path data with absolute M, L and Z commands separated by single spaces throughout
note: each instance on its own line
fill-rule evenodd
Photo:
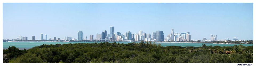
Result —
M 69 43 L 94 43 L 94 42 L 3 42 L 3 49 L 7 49 L 9 46 L 16 46 L 18 48 L 26 48 L 30 49 L 35 46 L 40 46 L 42 44 L 69 44 Z M 100 42 L 98 42 L 100 43 Z M 130 42 L 119 42 L 127 44 Z M 202 46 L 202 44 L 205 44 L 206 46 L 234 46 L 235 44 L 213 44 L 213 43 L 155 43 L 155 44 L 161 44 L 162 46 L 195 46 L 199 47 Z M 239 45 L 239 44 L 236 44 Z M 252 46 L 253 44 L 242 44 L 244 46 Z

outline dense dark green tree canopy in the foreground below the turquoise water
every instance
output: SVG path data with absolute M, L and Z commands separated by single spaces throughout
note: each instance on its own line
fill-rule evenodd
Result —
M 253 46 L 166 46 L 141 43 L 43 44 L 3 49 L 3 63 L 253 63 Z

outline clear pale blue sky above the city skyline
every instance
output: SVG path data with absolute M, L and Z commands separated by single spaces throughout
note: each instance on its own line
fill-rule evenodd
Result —
M 114 26 L 114 33 L 140 30 L 190 32 L 191 39 L 253 40 L 253 3 L 3 3 L 3 39 L 84 38 Z

